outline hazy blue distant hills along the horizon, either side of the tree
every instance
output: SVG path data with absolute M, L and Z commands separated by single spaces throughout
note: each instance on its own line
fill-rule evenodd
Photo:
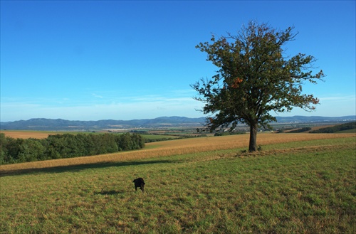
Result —
M 356 120 L 355 115 L 343 117 L 276 117 L 278 123 L 305 123 L 305 122 L 351 122 Z M 14 122 L 0 122 L 0 129 L 8 130 L 44 130 L 44 131 L 82 131 L 101 129 L 127 129 L 152 127 L 201 127 L 205 118 L 188 117 L 157 117 L 155 119 L 79 121 L 66 119 L 28 119 Z

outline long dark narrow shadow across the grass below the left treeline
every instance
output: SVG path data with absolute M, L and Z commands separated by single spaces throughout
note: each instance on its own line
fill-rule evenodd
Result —
M 78 164 L 78 165 L 70 165 L 70 166 L 53 166 L 53 167 L 44 167 L 40 169 L 19 169 L 19 170 L 12 170 L 12 171 L 1 171 L 0 177 L 23 175 L 23 174 L 63 173 L 68 171 L 79 172 L 86 169 L 103 169 L 106 167 L 138 166 L 138 165 L 145 165 L 145 164 L 169 164 L 175 162 L 177 161 L 173 161 L 173 160 L 118 161 L 118 162 L 100 162 L 95 164 Z

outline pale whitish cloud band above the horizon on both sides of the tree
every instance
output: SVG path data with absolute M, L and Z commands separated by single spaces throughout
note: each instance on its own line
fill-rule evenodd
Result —
M 180 95 L 178 95 L 180 94 Z M 186 94 L 186 95 L 184 95 Z M 61 99 L 3 99 L 1 98 L 1 122 L 31 118 L 51 118 L 70 120 L 98 119 L 150 119 L 160 116 L 201 117 L 203 104 L 194 100 L 189 91 L 168 92 L 165 95 L 105 95 L 92 93 L 95 100 Z M 87 96 L 88 97 L 88 96 Z M 315 112 L 305 112 L 298 108 L 281 116 L 355 115 L 355 95 L 333 95 L 320 97 L 320 105 Z M 330 112 L 330 110 L 333 110 Z

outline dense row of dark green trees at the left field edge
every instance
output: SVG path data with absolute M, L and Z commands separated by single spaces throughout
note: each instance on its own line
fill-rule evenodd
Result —
M 0 134 L 0 164 L 66 159 L 142 149 L 140 134 L 55 134 L 46 139 L 14 139 Z

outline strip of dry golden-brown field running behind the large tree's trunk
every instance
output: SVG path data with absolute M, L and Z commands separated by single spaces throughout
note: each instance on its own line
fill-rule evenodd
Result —
M 356 134 L 258 134 L 258 144 L 278 144 L 286 142 L 301 142 L 316 139 L 334 139 L 356 137 Z M 102 154 L 96 156 L 82 156 L 72 159 L 56 159 L 48 161 L 34 161 L 22 164 L 10 164 L 0 166 L 0 172 L 19 171 L 23 169 L 41 169 L 55 166 L 71 166 L 80 164 L 95 164 L 115 161 L 128 161 L 137 159 L 149 159 L 159 156 L 179 154 L 194 154 L 204 151 L 217 151 L 223 149 L 239 149 L 248 147 L 249 134 L 232 135 L 224 137 L 199 137 L 190 139 L 178 139 L 166 142 L 153 142 L 146 144 L 145 149 L 125 151 L 115 154 Z

